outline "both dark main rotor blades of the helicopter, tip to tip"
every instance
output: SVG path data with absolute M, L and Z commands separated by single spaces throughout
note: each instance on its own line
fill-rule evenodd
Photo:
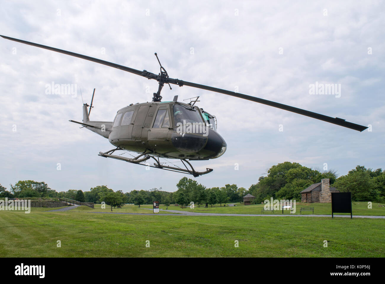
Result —
M 112 63 L 112 62 L 104 61 L 104 60 L 97 59 L 97 58 L 94 58 L 94 57 L 85 56 L 85 55 L 78 54 L 78 53 L 75 53 L 75 52 L 65 51 L 65 50 L 58 49 L 58 48 L 55 48 L 55 47 L 50 47 L 50 46 L 44 46 L 42 44 L 37 44 L 37 43 L 29 42 L 29 41 L 23 41 L 21 39 L 14 39 L 12 37 L 7 37 L 5 35 L 0 35 L 0 36 L 3 37 L 4 39 L 9 39 L 11 41 L 16 41 L 16 42 L 20 42 L 20 43 L 23 43 L 23 44 L 28 44 L 30 46 L 36 46 L 36 47 L 48 49 L 48 50 L 51 50 L 51 51 L 56 51 L 56 52 L 60 52 L 60 53 L 63 53 L 63 54 L 67 54 L 67 55 L 70 55 L 70 56 L 79 57 L 79 58 L 86 59 L 86 60 L 89 60 L 89 61 L 92 61 L 92 62 L 100 63 L 100 64 L 103 64 L 103 65 L 107 65 L 107 66 L 110 66 L 110 67 L 114 67 L 114 68 L 117 68 L 117 69 L 121 69 L 121 70 L 130 72 L 130 73 L 133 73 L 133 74 L 137 74 L 139 76 L 142 76 L 142 77 L 145 77 L 145 78 L 148 78 L 148 79 L 155 79 L 157 81 L 160 81 L 159 75 L 147 72 L 146 70 L 139 71 L 139 70 L 136 70 L 136 69 L 133 69 L 133 68 L 129 68 L 129 67 L 126 67 L 126 66 L 122 66 L 122 65 L 119 65 L 119 64 Z M 354 130 L 357 130 L 357 131 L 360 131 L 360 132 L 362 132 L 363 130 L 368 128 L 368 127 L 363 126 L 363 125 L 355 124 L 355 123 L 352 123 L 352 122 L 347 122 L 347 121 L 345 121 L 345 119 L 342 119 L 342 118 L 328 117 L 328 116 L 322 115 L 320 113 L 310 112 L 308 110 L 303 110 L 301 108 L 296 108 L 294 106 L 284 105 L 282 103 L 276 103 L 274 101 L 264 100 L 264 99 L 257 98 L 257 97 L 254 97 L 254 96 L 244 95 L 244 94 L 236 93 L 236 92 L 233 92 L 233 91 L 228 91 L 228 90 L 223 90 L 223 89 L 214 88 L 214 87 L 210 87 L 210 86 L 205 86 L 205 85 L 201 85 L 201 84 L 191 83 L 191 82 L 187 82 L 187 81 L 183 81 L 183 80 L 179 80 L 179 79 L 167 78 L 166 80 L 164 80 L 164 83 L 170 83 L 170 84 L 175 84 L 175 85 L 179 85 L 179 86 L 191 86 L 191 87 L 194 87 L 194 88 L 208 90 L 208 91 L 213 91 L 213 92 L 221 93 L 221 94 L 224 94 L 224 95 L 235 96 L 237 98 L 242 98 L 244 100 L 249 100 L 249 101 L 255 101 L 257 103 L 262 103 L 264 105 L 274 106 L 274 107 L 280 108 L 282 110 L 287 110 L 289 112 L 298 113 L 300 115 L 305 115 L 307 117 L 315 118 L 315 119 L 318 119 L 318 120 L 323 120 L 323 121 L 330 122 L 330 123 L 333 123 L 333 124 L 336 124 L 336 125 L 340 125 L 340 126 L 343 126 L 343 127 L 346 127 L 346 128 L 354 129 Z

